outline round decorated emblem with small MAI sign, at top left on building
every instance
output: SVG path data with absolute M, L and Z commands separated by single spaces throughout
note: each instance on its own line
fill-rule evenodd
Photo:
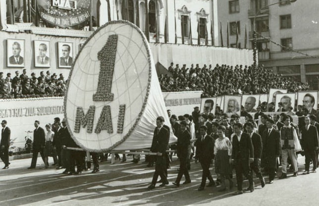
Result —
M 90 0 L 37 0 L 38 12 L 49 27 L 82 29 L 90 18 Z

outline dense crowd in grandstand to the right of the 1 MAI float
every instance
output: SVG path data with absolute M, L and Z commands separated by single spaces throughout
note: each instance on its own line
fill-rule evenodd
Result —
M 160 75 L 162 92 L 203 91 L 203 97 L 216 97 L 222 95 L 268 94 L 270 88 L 287 89 L 288 93 L 309 90 L 308 83 L 295 81 L 293 77 L 283 77 L 275 74 L 263 66 L 253 69 L 251 66 L 226 64 L 213 68 L 171 63 L 168 67 L 170 74 Z

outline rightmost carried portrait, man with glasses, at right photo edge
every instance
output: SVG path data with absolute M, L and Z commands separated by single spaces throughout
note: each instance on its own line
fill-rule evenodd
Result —
M 317 115 L 318 91 L 298 92 L 297 103 L 306 107 L 309 114 Z

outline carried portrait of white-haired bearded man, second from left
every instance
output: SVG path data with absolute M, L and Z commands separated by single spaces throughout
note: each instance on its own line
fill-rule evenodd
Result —
M 242 96 L 224 96 L 224 113 L 230 117 L 233 114 L 240 116 Z

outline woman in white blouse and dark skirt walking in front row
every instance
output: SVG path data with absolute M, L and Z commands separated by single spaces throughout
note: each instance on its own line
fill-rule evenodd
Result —
M 226 190 L 225 178 L 229 181 L 229 189 L 232 189 L 233 182 L 230 179 L 230 166 L 229 158 L 232 152 L 232 145 L 229 139 L 225 136 L 226 128 L 224 126 L 218 126 L 217 134 L 218 138 L 215 140 L 214 154 L 215 154 L 215 172 L 220 175 L 221 188 L 219 192 Z

